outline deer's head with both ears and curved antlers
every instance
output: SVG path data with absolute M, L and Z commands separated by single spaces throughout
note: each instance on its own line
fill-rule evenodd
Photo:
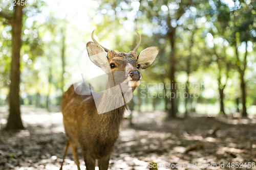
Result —
M 139 33 L 137 33 L 139 35 Z M 102 68 L 106 74 L 114 71 L 121 72 L 119 74 L 120 82 L 131 81 L 131 87 L 133 90 L 140 85 L 142 79 L 139 69 L 145 69 L 151 66 L 159 52 L 157 46 L 151 46 L 143 50 L 139 56 L 136 54 L 136 50 L 140 45 L 141 36 L 139 35 L 139 43 L 133 51 L 129 53 L 116 53 L 113 50 L 101 46 L 94 38 L 92 32 L 92 39 L 94 42 L 87 43 L 87 51 L 91 61 Z M 107 52 L 107 54 L 105 54 Z

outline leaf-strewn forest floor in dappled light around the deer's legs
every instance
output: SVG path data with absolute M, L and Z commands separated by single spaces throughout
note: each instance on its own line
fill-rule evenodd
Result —
M 62 114 L 24 107 L 22 112 L 26 130 L 0 132 L 0 169 L 59 169 L 66 141 Z M 165 115 L 133 112 L 133 127 L 125 119 L 110 169 L 256 169 L 255 117 L 191 114 L 166 121 Z M 0 112 L 0 128 L 7 116 Z M 80 150 L 79 159 L 85 169 Z M 63 169 L 77 169 L 71 150 Z

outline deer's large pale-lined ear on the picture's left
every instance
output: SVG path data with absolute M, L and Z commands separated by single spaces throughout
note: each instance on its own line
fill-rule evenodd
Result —
M 90 60 L 106 72 L 106 69 L 109 68 L 109 61 L 104 49 L 95 42 L 88 42 L 86 48 Z

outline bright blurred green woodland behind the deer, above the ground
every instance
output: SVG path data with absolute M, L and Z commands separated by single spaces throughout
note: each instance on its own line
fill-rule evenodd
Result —
M 138 52 L 160 48 L 154 65 L 142 71 L 134 110 L 161 110 L 169 118 L 189 112 L 256 113 L 256 3 L 251 0 L 26 2 L 19 23 L 21 105 L 60 110 L 61 95 L 73 83 L 72 66 L 88 58 L 86 43 L 97 28 L 96 40 L 116 52 L 134 48 L 135 30 L 142 35 Z M 10 93 L 9 19 L 15 6 L 2 1 L 0 7 L 3 111 Z

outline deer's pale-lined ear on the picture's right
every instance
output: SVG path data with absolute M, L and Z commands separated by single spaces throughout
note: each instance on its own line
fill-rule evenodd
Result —
M 151 66 L 157 58 L 159 48 L 157 46 L 151 46 L 140 52 L 138 56 L 138 62 L 141 69 L 145 69 Z

